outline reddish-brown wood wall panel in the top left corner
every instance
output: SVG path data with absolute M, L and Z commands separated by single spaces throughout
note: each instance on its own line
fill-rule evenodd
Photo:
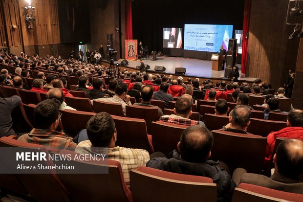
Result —
M 22 35 L 20 27 L 20 11 L 17 0 L 3 0 L 5 25 L 7 30 L 7 42 L 9 46 L 21 46 Z M 13 28 L 16 26 L 16 29 Z

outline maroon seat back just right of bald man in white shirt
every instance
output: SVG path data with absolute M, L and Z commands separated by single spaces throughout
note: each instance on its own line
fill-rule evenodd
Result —
M 66 104 L 78 111 L 93 112 L 90 99 L 82 97 L 64 97 Z

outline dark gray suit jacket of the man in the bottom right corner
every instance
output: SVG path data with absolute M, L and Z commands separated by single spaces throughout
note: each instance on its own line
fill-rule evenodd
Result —
M 270 178 L 263 175 L 246 173 L 242 175 L 240 183 L 255 184 L 280 191 L 303 194 L 303 182 L 299 179 L 294 180 L 285 177 L 279 173 L 274 173 Z

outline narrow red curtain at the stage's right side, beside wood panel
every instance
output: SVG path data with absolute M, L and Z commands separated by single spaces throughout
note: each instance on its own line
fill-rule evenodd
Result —
M 242 39 L 243 40 L 242 41 L 242 68 L 241 68 L 241 72 L 244 74 L 246 72 L 247 50 L 248 50 L 248 37 L 246 38 L 245 36 L 246 34 L 249 33 L 250 9 L 251 9 L 251 0 L 245 0 L 244 19 L 243 19 L 243 39 Z

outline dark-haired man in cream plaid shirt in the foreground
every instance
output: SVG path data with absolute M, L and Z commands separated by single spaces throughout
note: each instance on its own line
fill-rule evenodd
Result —
M 115 146 L 117 140 L 115 123 L 107 112 L 98 113 L 88 120 L 87 136 L 89 140 L 80 142 L 75 152 L 107 154 L 108 159 L 119 161 L 127 186 L 130 186 L 130 169 L 146 166 L 146 162 L 150 160 L 149 153 L 144 149 Z

